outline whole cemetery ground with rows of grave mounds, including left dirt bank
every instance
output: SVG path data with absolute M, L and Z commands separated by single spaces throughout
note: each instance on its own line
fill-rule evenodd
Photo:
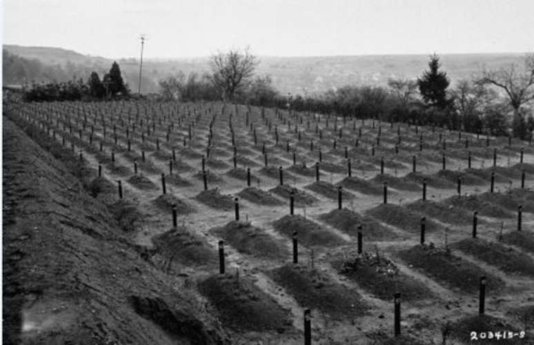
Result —
M 50 315 L 99 344 L 534 344 L 529 141 L 150 101 L 5 103 L 3 128 L 21 315 L 75 271 L 97 302 Z

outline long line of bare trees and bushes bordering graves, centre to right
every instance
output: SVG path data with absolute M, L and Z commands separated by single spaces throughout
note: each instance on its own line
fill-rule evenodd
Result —
M 451 81 L 437 55 L 417 79 L 390 79 L 387 87 L 344 86 L 319 95 L 281 95 L 269 76 L 254 75 L 257 58 L 230 50 L 210 57 L 210 73 L 183 72 L 159 81 L 166 100 L 224 100 L 255 106 L 290 108 L 349 117 L 443 126 L 452 130 L 513 135 L 525 139 L 534 130 L 534 55 L 524 66 Z

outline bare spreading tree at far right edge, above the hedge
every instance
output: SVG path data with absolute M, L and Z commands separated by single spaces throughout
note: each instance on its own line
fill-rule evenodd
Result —
M 517 63 L 498 70 L 483 70 L 479 84 L 493 85 L 506 92 L 508 104 L 514 112 L 514 121 L 524 121 L 522 106 L 534 99 L 534 55 L 526 55 L 524 71 L 520 71 Z

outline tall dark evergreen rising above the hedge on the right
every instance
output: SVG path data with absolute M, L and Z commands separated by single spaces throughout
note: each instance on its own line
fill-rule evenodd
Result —
M 445 109 L 451 104 L 447 99 L 449 80 L 446 72 L 439 71 L 440 66 L 439 57 L 434 54 L 428 62 L 429 70 L 424 71 L 423 76 L 417 79 L 417 83 L 419 92 L 428 105 Z

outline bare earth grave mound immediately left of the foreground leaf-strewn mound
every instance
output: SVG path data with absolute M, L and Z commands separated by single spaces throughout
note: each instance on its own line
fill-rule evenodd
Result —
M 368 311 L 357 290 L 333 282 L 319 270 L 290 264 L 273 270 L 270 275 L 301 306 L 318 309 L 333 319 L 363 316 Z

